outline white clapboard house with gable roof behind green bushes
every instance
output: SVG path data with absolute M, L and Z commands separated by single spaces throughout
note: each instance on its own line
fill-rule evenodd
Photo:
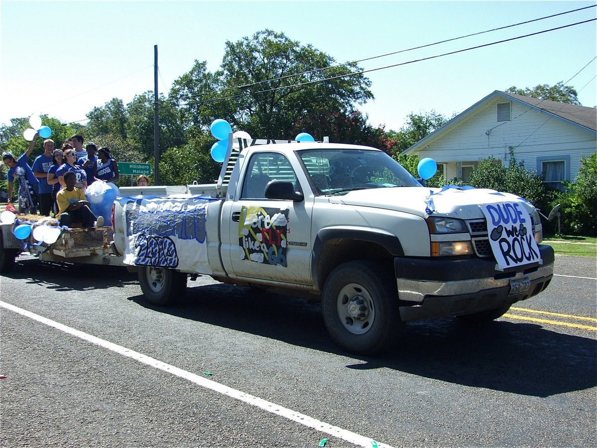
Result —
M 510 148 L 550 185 L 573 181 L 581 157 L 597 151 L 597 109 L 496 90 L 403 154 L 430 157 L 445 179 L 466 183 L 483 158 L 508 164 Z

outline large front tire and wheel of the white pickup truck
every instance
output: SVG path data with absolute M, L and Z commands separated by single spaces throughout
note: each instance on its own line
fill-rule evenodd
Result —
M 392 272 L 370 261 L 351 261 L 325 281 L 322 312 L 328 332 L 346 351 L 376 354 L 398 339 L 401 320 Z

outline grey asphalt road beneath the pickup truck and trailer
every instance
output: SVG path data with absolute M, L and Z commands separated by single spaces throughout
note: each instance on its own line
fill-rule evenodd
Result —
M 399 349 L 365 358 L 300 299 L 198 278 L 160 309 L 123 268 L 20 257 L 0 300 L 50 321 L 0 306 L 0 445 L 595 446 L 596 261 L 556 257 L 556 274 L 512 317 L 410 323 Z

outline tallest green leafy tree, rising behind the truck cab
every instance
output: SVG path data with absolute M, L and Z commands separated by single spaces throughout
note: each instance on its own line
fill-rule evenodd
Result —
M 184 113 L 204 128 L 214 118 L 224 118 L 254 137 L 293 138 L 298 122 L 309 113 L 315 126 L 315 118 L 337 112 L 350 116 L 354 105 L 373 98 L 371 81 L 358 66 L 335 64 L 312 45 L 266 29 L 227 41 L 221 69 L 213 74 L 205 63 L 195 62 L 192 72 L 174 82 L 170 99 L 187 102 Z M 214 90 L 219 92 L 206 94 Z M 301 129 L 311 134 L 318 130 Z

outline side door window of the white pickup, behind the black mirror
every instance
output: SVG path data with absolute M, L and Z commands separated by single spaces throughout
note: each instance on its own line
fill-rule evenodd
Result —
M 270 180 L 288 180 L 297 185 L 296 173 L 284 154 L 253 154 L 242 185 L 241 199 L 265 199 L 265 187 Z

